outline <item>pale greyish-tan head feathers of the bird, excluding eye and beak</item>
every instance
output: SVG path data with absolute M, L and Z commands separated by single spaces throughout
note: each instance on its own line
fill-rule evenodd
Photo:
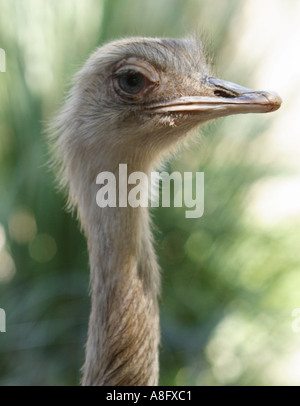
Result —
M 114 75 L 120 64 L 130 65 L 132 58 L 149 83 L 159 85 L 149 86 L 141 97 L 120 97 Z M 50 130 L 59 182 L 69 186 L 70 206 L 78 200 L 81 177 L 94 180 L 101 169 L 120 162 L 136 161 L 136 169 L 141 169 L 142 162 L 148 168 L 170 149 L 170 143 L 175 144 L 185 130 L 194 127 L 199 119 L 193 122 L 182 114 L 151 114 L 144 106 L 184 96 L 187 90 L 199 94 L 201 76 L 207 74 L 203 45 L 196 37 L 130 38 L 98 48 L 74 76 Z

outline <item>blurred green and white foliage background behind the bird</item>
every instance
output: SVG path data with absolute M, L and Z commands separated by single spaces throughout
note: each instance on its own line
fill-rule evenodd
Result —
M 205 211 L 154 211 L 161 385 L 300 384 L 298 0 L 0 0 L 0 385 L 77 385 L 88 256 L 47 166 L 46 123 L 103 42 L 200 33 L 220 77 L 277 91 L 169 164 L 205 172 Z

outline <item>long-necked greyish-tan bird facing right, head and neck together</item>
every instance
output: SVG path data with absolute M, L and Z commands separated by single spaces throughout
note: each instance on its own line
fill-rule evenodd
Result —
M 96 204 L 97 175 L 151 171 L 202 123 L 270 112 L 276 93 L 210 76 L 196 38 L 130 38 L 97 49 L 52 131 L 59 179 L 87 238 L 91 313 L 82 385 L 157 385 L 160 274 L 147 208 Z M 117 182 L 118 185 L 118 182 Z

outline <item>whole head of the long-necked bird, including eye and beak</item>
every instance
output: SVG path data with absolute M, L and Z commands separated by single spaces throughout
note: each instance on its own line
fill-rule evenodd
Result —
M 88 179 L 99 172 L 101 161 L 106 169 L 124 162 L 132 170 L 147 172 L 202 123 L 232 114 L 270 112 L 280 104 L 275 93 L 211 77 L 203 46 L 195 38 L 109 43 L 75 76 L 59 116 L 59 151 L 71 196 L 78 190 L 79 170 L 79 177 Z

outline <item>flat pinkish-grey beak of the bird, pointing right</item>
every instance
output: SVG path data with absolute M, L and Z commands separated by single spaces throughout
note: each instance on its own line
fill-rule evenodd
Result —
M 208 96 L 180 97 L 148 108 L 153 113 L 203 113 L 211 119 L 231 114 L 268 113 L 279 109 L 282 103 L 275 92 L 256 91 L 217 78 L 205 78 L 204 86 Z

